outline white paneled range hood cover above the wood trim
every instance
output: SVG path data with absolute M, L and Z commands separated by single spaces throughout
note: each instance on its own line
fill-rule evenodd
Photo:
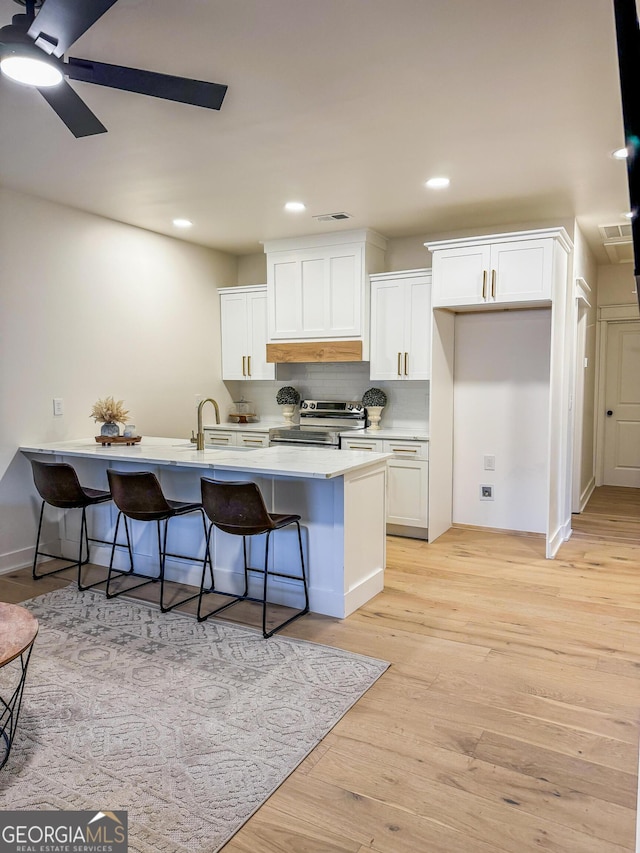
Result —
M 367 341 L 367 276 L 385 247 L 368 230 L 265 243 L 269 341 Z

